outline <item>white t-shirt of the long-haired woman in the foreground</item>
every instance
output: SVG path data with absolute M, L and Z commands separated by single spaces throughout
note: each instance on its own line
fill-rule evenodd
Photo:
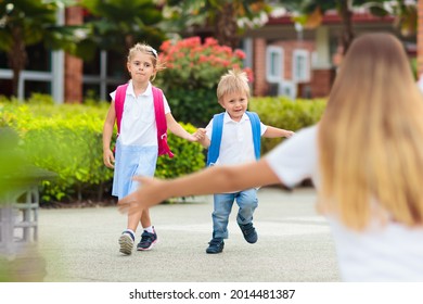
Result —
M 266 160 L 284 185 L 293 187 L 310 177 L 319 188 L 317 127 L 297 132 Z M 388 223 L 361 232 L 332 216 L 328 221 L 344 281 L 423 281 L 423 228 Z

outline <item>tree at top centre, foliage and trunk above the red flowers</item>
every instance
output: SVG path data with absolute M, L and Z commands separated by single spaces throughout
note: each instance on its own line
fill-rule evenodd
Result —
M 265 0 L 168 0 L 164 8 L 167 28 L 193 34 L 210 26 L 219 45 L 239 47 L 239 34 L 246 26 L 262 25 L 260 15 L 271 8 Z

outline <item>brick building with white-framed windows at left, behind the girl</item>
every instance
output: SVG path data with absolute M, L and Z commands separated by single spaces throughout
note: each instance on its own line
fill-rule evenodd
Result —
M 57 22 L 81 24 L 84 14 L 81 8 L 68 8 L 57 13 Z M 51 94 L 56 103 L 79 103 L 89 96 L 106 100 L 107 92 L 125 77 L 125 66 L 116 67 L 115 58 L 105 51 L 99 51 L 95 60 L 89 63 L 63 51 L 46 50 L 41 45 L 27 48 L 27 53 L 28 65 L 22 71 L 18 84 L 17 98 L 21 100 L 29 98 L 33 92 Z M 120 72 L 116 76 L 107 71 Z M 0 94 L 12 94 L 12 71 L 8 68 L 7 55 L 1 52 Z

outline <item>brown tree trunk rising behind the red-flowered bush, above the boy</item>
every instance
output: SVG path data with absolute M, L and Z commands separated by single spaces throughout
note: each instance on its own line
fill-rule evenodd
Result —
M 226 3 L 216 14 L 215 34 L 219 45 L 228 46 L 232 50 L 239 47 L 235 8 L 233 3 Z

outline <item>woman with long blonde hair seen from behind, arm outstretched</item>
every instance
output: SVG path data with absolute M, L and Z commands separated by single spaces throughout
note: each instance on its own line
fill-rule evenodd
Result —
M 423 281 L 423 100 L 401 42 L 367 34 L 352 42 L 317 126 L 257 163 L 214 166 L 143 186 L 118 204 L 139 214 L 169 197 L 311 177 L 345 281 Z

